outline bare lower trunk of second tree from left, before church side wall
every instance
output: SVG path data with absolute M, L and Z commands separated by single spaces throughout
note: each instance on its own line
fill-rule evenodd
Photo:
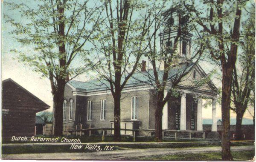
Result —
M 116 89 L 116 93 L 114 96 L 114 141 L 121 141 L 120 134 L 120 99 L 121 99 L 121 91 Z

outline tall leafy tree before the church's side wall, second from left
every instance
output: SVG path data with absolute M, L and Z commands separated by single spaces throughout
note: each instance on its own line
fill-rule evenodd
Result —
M 99 61 L 93 70 L 113 96 L 114 140 L 119 141 L 121 91 L 134 74 L 148 46 L 143 42 L 155 19 L 152 12 L 161 10 L 166 0 L 161 3 L 143 0 L 104 0 L 103 3 L 105 14 L 102 14 L 102 23 L 91 40 L 92 49 Z M 92 62 L 89 58 L 86 60 Z M 95 62 L 91 63 L 91 66 L 93 65 Z

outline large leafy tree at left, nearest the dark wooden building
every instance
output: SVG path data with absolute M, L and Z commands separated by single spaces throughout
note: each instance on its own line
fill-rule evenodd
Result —
M 90 0 L 38 0 L 34 6 L 6 1 L 4 4 L 10 7 L 10 13 L 19 11 L 27 20 L 20 22 L 5 15 L 6 22 L 14 27 L 11 34 L 19 43 L 33 49 L 32 54 L 15 49 L 19 60 L 50 80 L 54 135 L 61 136 L 64 86 L 86 68 L 73 61 L 85 53 L 83 47 L 99 23 L 102 6 Z

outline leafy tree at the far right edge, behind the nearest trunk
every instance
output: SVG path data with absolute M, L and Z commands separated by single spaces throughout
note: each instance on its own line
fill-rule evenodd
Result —
M 232 80 L 232 101 L 235 105 L 231 107 L 236 112 L 236 139 L 242 139 L 242 119 L 244 112 L 250 103 L 254 100 L 255 87 L 255 8 L 251 9 L 250 17 L 244 25 L 242 35 L 239 63 L 233 69 Z M 238 68 L 239 67 L 239 68 Z M 253 101 L 254 102 L 254 101 Z

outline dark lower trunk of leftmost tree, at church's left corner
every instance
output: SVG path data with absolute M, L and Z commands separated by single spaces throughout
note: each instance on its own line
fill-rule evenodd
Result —
M 54 135 L 62 136 L 63 131 L 63 101 L 64 101 L 65 79 L 58 81 L 58 90 L 52 91 L 54 105 Z

